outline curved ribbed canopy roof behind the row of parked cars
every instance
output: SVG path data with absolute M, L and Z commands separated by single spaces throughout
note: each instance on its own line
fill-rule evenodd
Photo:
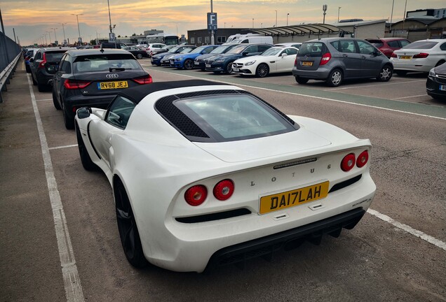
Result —
M 295 36 L 305 34 L 333 34 L 339 32 L 341 29 L 330 24 L 300 24 L 286 27 L 268 27 L 257 28 L 252 31 L 258 34 L 265 34 L 266 36 Z

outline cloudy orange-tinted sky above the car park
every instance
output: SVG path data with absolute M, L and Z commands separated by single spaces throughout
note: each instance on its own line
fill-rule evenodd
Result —
M 340 19 L 361 18 L 364 20 L 403 19 L 406 10 L 445 8 L 445 0 L 213 0 L 218 27 L 273 27 L 288 24 L 323 22 L 323 4 L 327 4 L 326 23 Z M 187 30 L 206 28 L 206 13 L 210 12 L 210 0 L 109 0 L 114 32 L 121 36 L 142 34 L 144 30 L 162 29 L 165 33 L 184 34 Z M 14 39 L 13 29 L 20 44 L 31 45 L 43 41 L 43 36 L 65 37 L 77 41 L 79 31 L 83 41 L 107 37 L 109 13 L 107 0 L 0 0 L 6 35 Z M 55 33 L 54 33 L 55 31 Z M 49 34 L 48 34 L 49 32 Z

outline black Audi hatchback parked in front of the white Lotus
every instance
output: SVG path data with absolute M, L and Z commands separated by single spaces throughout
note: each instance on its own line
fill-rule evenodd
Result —
M 126 50 L 69 50 L 54 75 L 53 103 L 62 110 L 65 127 L 73 129 L 78 108 L 105 109 L 119 91 L 151 82 L 151 75 Z

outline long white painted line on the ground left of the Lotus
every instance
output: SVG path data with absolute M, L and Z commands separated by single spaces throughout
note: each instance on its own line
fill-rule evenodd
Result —
M 76 259 L 74 259 L 72 240 L 69 237 L 67 220 L 62 207 L 62 201 L 60 200 L 58 183 L 55 180 L 48 143 L 46 142 L 45 131 L 43 131 L 43 124 L 39 108 L 37 108 L 36 96 L 32 89 L 32 82 L 29 78 L 29 74 L 27 75 L 27 78 L 32 107 L 34 109 L 34 115 L 36 116 L 37 130 L 39 131 L 46 183 L 48 185 L 51 208 L 53 209 L 54 228 L 58 241 L 60 266 L 62 266 L 62 278 L 65 285 L 65 296 L 67 297 L 67 302 L 82 302 L 85 301 L 85 299 L 83 297 L 81 279 L 79 278 L 79 273 L 77 271 Z

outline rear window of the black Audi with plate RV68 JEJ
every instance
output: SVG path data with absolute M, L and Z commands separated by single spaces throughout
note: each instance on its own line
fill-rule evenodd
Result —
M 83 55 L 74 59 L 74 73 L 109 71 L 109 69 L 140 70 L 141 66 L 131 54 Z

